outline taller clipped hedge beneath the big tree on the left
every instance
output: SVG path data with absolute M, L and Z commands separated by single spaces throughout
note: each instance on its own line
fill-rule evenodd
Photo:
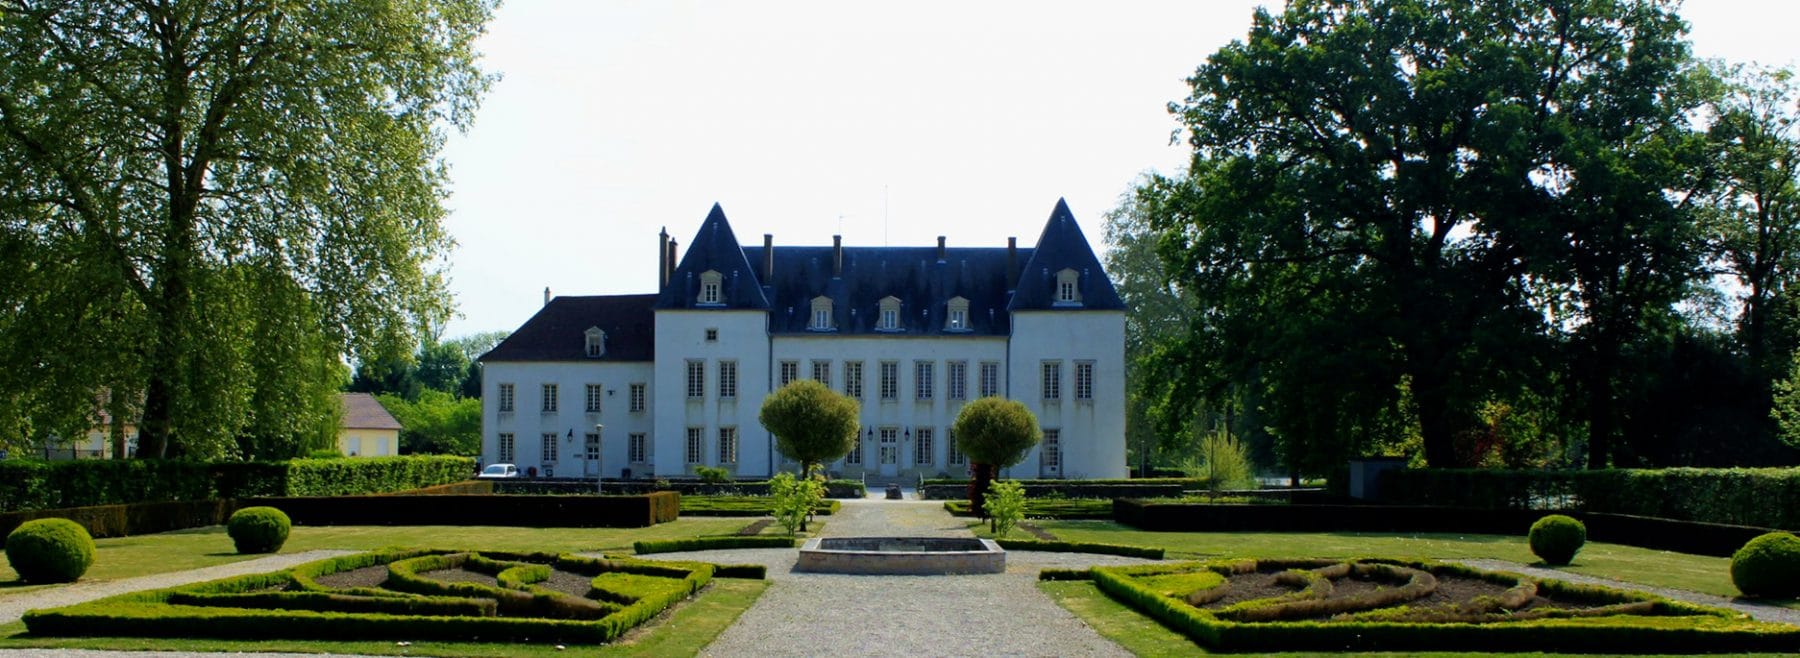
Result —
M 468 480 L 468 457 L 194 462 L 173 458 L 0 462 L 0 512 L 247 496 L 351 496 Z

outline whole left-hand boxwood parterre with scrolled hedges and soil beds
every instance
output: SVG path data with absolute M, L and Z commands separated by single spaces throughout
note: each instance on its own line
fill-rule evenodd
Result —
M 319 579 L 387 566 L 380 586 Z M 495 584 L 436 579 L 468 570 Z M 545 588 L 554 572 L 589 577 L 585 597 Z M 601 644 L 693 595 L 713 577 L 761 579 L 761 565 L 706 565 L 430 548 L 387 548 L 283 572 L 135 591 L 23 617 L 40 636 L 207 636 L 315 640 L 482 640 Z

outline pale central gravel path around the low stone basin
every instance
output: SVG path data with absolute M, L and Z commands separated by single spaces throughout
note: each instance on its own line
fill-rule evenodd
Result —
M 941 502 L 850 500 L 824 536 L 967 538 Z M 646 556 L 760 563 L 774 581 L 704 656 L 1130 656 L 1037 588 L 1042 566 L 1130 557 L 1008 552 L 994 575 L 794 574 L 792 548 Z

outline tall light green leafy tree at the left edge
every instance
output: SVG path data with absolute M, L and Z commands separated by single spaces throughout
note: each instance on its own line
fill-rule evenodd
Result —
M 245 453 L 293 430 L 259 413 L 329 413 L 344 354 L 445 316 L 439 153 L 491 9 L 0 0 L 9 440 L 81 431 L 108 392 L 139 455 Z

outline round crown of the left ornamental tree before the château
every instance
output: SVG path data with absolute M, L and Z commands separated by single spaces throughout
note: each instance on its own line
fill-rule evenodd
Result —
M 799 462 L 801 475 L 857 446 L 862 405 L 812 379 L 796 379 L 763 397 L 756 421 L 776 437 L 776 449 Z

